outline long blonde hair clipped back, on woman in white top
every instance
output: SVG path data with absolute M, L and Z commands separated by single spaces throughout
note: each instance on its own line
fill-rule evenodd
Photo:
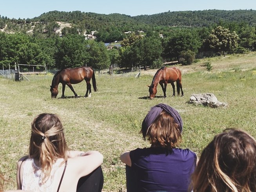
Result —
M 64 158 L 64 162 L 67 160 L 66 151 L 67 144 L 60 118 L 49 113 L 36 116 L 31 123 L 29 158 L 39 160 L 43 173 L 42 183 L 49 178 L 51 168 L 58 158 Z

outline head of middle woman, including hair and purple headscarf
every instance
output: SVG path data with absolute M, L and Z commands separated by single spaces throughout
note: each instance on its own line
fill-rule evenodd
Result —
M 171 150 L 177 147 L 182 136 L 182 119 L 178 112 L 166 104 L 151 108 L 142 122 L 142 135 L 151 142 L 152 147 Z

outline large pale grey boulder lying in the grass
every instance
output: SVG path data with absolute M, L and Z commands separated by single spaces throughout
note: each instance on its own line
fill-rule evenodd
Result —
M 212 108 L 227 107 L 227 103 L 218 101 L 212 93 L 192 94 L 189 103 Z

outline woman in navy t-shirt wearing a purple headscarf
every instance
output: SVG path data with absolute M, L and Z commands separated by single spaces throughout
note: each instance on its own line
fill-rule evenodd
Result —
M 151 147 L 124 152 L 127 192 L 187 192 L 197 156 L 180 149 L 183 122 L 178 111 L 160 103 L 142 122 L 141 133 Z

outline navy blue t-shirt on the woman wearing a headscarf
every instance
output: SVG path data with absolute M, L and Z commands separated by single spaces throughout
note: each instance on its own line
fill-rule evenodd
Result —
M 135 149 L 130 152 L 131 168 L 138 175 L 138 191 L 187 192 L 196 166 L 196 154 L 189 149 L 161 147 Z

